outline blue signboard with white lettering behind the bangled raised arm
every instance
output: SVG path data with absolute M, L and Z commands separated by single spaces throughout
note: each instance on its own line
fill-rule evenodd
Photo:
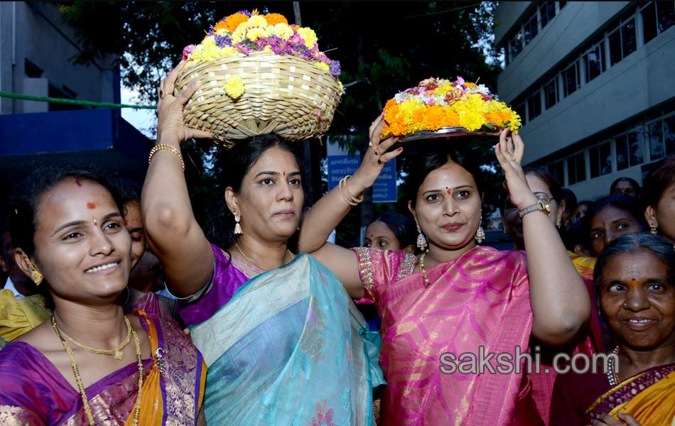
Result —
M 338 186 L 340 179 L 353 175 L 361 163 L 360 155 L 328 155 L 328 190 Z M 373 202 L 396 202 L 396 158 L 384 165 L 372 188 Z

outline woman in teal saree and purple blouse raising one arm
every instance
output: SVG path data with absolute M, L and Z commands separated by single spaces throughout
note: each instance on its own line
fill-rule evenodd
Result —
M 162 82 L 141 209 L 168 289 L 182 299 L 180 315 L 209 367 L 207 422 L 372 424 L 365 320 L 333 273 L 288 250 L 303 188 L 286 143 L 257 136 L 224 152 L 219 184 L 227 209 L 210 238 L 215 244 L 196 222 L 180 143 L 210 134 L 183 126 L 183 106 L 198 87 L 173 97 L 182 67 Z M 381 377 L 377 357 L 372 362 Z

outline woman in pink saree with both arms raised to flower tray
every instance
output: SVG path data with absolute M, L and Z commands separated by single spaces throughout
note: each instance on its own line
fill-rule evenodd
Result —
M 387 380 L 382 424 L 541 425 L 522 354 L 531 336 L 551 345 L 573 339 L 588 322 L 590 300 L 542 212 L 546 203 L 524 178 L 522 139 L 502 132 L 495 153 L 512 202 L 524 214 L 525 253 L 475 243 L 481 236 L 480 172 L 470 156 L 452 148 L 454 141 L 426 142 L 430 152 L 411 169 L 409 209 L 419 224 L 420 246 L 428 241 L 419 258 L 325 244 L 383 163 L 401 152 L 386 153 L 396 138 L 380 144 L 382 126 L 379 118 L 371 127 L 371 148 L 355 175 L 307 214 L 299 240 L 300 249 L 338 275 L 352 297 L 365 295 L 377 304 Z

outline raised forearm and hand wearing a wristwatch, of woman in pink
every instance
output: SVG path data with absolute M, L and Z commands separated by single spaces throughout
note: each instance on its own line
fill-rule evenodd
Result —
M 522 138 L 513 135 L 512 141 L 508 140 L 508 132 L 502 131 L 495 153 L 504 169 L 511 201 L 522 210 L 539 200 L 527 185 L 520 165 L 524 153 Z M 537 211 L 525 214 L 523 236 L 534 315 L 532 334 L 551 346 L 565 344 L 590 319 L 588 290 L 546 214 Z

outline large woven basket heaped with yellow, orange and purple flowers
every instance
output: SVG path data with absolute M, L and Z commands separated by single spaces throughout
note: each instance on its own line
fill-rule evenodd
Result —
M 289 25 L 279 13 L 226 16 L 183 50 L 183 60 L 176 91 L 202 82 L 185 106 L 185 124 L 227 147 L 263 133 L 288 141 L 320 136 L 343 92 L 340 62 L 319 50 L 311 28 Z

